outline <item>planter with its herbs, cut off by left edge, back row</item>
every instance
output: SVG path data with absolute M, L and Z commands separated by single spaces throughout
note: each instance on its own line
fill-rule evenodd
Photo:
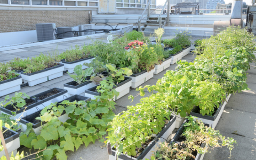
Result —
M 8 64 L 0 63 L 0 96 L 20 90 L 22 84 L 21 76 L 8 70 Z

